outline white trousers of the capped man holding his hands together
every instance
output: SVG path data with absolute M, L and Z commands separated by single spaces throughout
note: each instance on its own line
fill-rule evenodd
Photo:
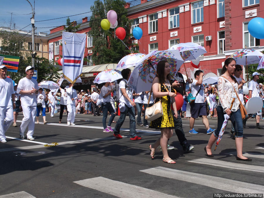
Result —
M 27 137 L 32 137 L 34 134 L 35 128 L 35 117 L 37 106 L 22 106 L 24 118 L 22 119 L 22 123 L 20 125 L 20 133 L 24 135 L 26 128 L 28 127 Z

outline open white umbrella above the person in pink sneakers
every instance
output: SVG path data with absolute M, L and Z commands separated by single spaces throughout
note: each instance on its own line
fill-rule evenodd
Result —
M 100 72 L 94 79 L 94 83 L 101 84 L 104 82 L 113 82 L 123 78 L 119 70 L 104 70 Z

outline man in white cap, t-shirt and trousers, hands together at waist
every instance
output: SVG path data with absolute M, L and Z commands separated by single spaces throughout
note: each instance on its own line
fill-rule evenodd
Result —
M 35 67 L 26 67 L 26 77 L 22 78 L 18 82 L 17 93 L 20 94 L 21 106 L 23 109 L 24 118 L 19 130 L 21 139 L 24 139 L 24 132 L 28 126 L 27 139 L 35 140 L 32 136 L 35 128 L 35 117 L 37 110 L 37 99 L 38 94 L 38 82 L 32 78 L 34 75 Z

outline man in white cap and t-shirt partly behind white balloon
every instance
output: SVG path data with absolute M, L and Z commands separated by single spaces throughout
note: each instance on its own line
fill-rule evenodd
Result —
M 260 97 L 259 93 L 260 93 L 260 89 L 262 88 L 260 84 L 258 84 L 257 80 L 259 79 L 259 73 L 258 72 L 254 72 L 252 74 L 252 80 L 248 83 L 248 90 L 249 90 L 249 94 L 248 94 L 248 98 L 251 99 L 252 97 Z M 258 129 L 264 129 L 264 127 L 259 126 L 259 120 L 260 120 L 260 116 L 261 116 L 262 112 L 259 111 L 255 114 L 256 116 L 256 128 Z

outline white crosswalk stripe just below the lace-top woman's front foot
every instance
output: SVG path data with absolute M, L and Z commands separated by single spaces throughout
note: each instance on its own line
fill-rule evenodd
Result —
M 249 170 L 255 172 L 264 172 L 264 166 L 255 166 L 255 165 L 248 165 L 248 164 L 239 164 L 233 162 L 225 162 L 221 160 L 212 160 L 208 158 L 200 158 L 197 160 L 190 160 L 188 162 L 197 163 L 197 164 L 207 164 L 211 166 L 219 166 L 225 168 L 232 168 L 238 170 Z

